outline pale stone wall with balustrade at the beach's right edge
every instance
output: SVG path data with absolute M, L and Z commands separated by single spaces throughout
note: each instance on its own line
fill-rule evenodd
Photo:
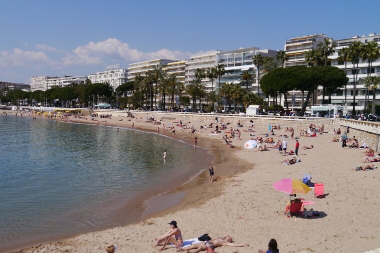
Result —
M 342 133 L 347 131 L 349 127 L 348 137 L 355 136 L 359 144 L 365 141 L 368 147 L 374 149 L 376 152 L 380 151 L 379 134 L 380 124 L 373 121 L 361 121 L 352 119 L 341 119 L 340 129 Z

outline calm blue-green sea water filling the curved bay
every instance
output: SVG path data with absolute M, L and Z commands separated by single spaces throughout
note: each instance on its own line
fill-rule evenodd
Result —
M 1 115 L 0 131 L 2 250 L 138 221 L 146 199 L 211 160 L 204 149 L 121 128 Z

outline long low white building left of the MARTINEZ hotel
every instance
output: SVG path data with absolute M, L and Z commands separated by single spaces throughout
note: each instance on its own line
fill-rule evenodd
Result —
M 63 77 L 49 77 L 49 76 L 32 76 L 30 90 L 45 91 L 54 86 L 64 87 L 70 83 L 81 83 L 86 80 L 85 76 L 63 76 Z

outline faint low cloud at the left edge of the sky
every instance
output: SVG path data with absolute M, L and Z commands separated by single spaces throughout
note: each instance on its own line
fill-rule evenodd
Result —
M 59 63 L 50 60 L 44 52 L 24 51 L 14 48 L 11 51 L 0 51 L 0 66 L 57 66 Z

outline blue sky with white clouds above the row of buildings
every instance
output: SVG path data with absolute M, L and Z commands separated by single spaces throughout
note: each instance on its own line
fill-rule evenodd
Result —
M 86 76 L 209 50 L 283 50 L 286 39 L 380 33 L 367 0 L 0 0 L 0 81 Z

